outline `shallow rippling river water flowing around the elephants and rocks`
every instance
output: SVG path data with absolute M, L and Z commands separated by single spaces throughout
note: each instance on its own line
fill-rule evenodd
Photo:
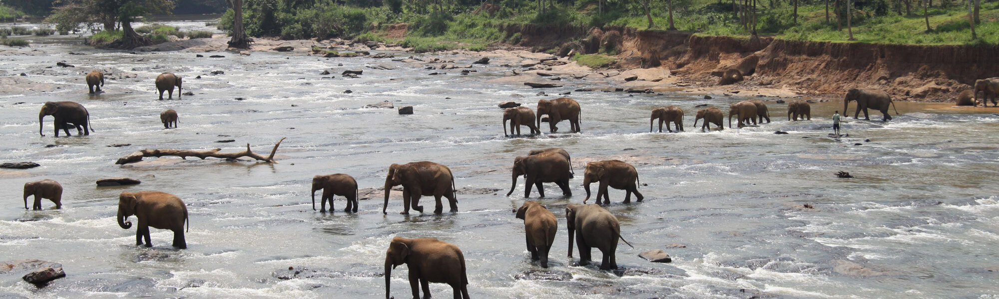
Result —
M 203 23 L 170 22 L 185 30 Z M 999 296 L 999 224 L 993 222 L 999 220 L 999 116 L 992 115 L 999 110 L 897 103 L 902 116 L 888 123 L 876 112 L 872 120 L 878 121 L 849 119 L 843 130 L 849 137 L 837 141 L 827 136 L 829 116 L 842 108 L 836 99 L 813 104 L 811 121 L 787 122 L 786 105 L 763 98 L 771 100 L 773 123 L 700 133 L 692 126 L 694 106 L 727 112 L 728 104 L 748 98 L 574 92 L 569 97 L 582 107 L 582 134 L 507 139 L 498 103 L 533 109 L 536 100 L 554 97 L 485 83 L 502 76 L 499 68 L 428 76 L 432 71 L 390 59 L 281 53 L 210 59 L 94 50 L 69 37 L 34 39 L 31 49 L 21 49 L 29 55 L 0 57 L 6 71 L 0 76 L 26 73 L 61 88 L 0 96 L 0 161 L 41 164 L 0 172 L 7 198 L 0 208 L 0 260 L 60 262 L 67 277 L 39 289 L 0 273 L 0 298 L 383 298 L 385 251 L 397 235 L 461 247 L 474 298 Z M 58 61 L 76 67 L 54 67 Z M 375 63 L 397 69 L 365 68 Z M 94 68 L 137 76 L 114 76 L 106 93 L 89 96 L 83 76 Z M 346 69 L 365 73 L 341 78 Z M 336 78 L 324 79 L 323 70 Z M 185 91 L 195 95 L 157 101 L 153 79 L 163 72 L 183 76 Z M 587 86 L 567 81 L 545 92 Z M 46 137 L 39 137 L 37 114 L 47 101 L 86 106 L 96 132 L 54 138 L 49 117 Z M 414 106 L 416 113 L 364 108 L 382 101 Z M 667 105 L 686 111 L 686 132 L 647 133 L 649 111 Z M 179 129 L 163 129 L 158 115 L 167 109 L 180 115 Z M 567 123 L 559 127 L 568 130 Z M 114 164 L 138 149 L 237 151 L 250 144 L 267 154 L 282 138 L 275 164 L 176 157 Z M 131 146 L 107 147 L 112 144 Z M 551 147 L 572 154 L 576 177 L 573 196 L 553 196 L 557 187 L 545 184 L 549 197 L 539 199 L 559 218 L 547 271 L 571 278 L 525 279 L 525 272 L 545 271 L 530 262 L 522 221 L 510 212 L 523 201 L 517 195 L 523 180 L 514 195 L 503 194 L 514 156 Z M 634 245 L 618 246 L 617 273 L 573 266 L 575 259 L 565 257 L 563 207 L 585 196 L 584 163 L 610 158 L 632 163 L 647 183 L 640 187 L 643 202 L 622 204 L 623 191 L 610 191 L 607 209 Z M 383 214 L 380 193 L 361 200 L 358 213 L 343 212 L 342 197 L 332 213 L 311 206 L 313 175 L 349 173 L 362 188 L 377 188 L 391 163 L 418 160 L 452 168 L 459 212 L 401 215 L 396 196 Z M 838 170 L 855 177 L 837 178 Z M 115 176 L 143 182 L 95 186 Z M 44 210 L 23 209 L 22 185 L 41 178 L 62 183 L 62 209 L 48 200 Z M 118 194 L 139 190 L 174 193 L 188 204 L 188 249 L 170 247 L 172 232 L 157 229 L 154 247 L 137 247 L 135 228 L 117 225 Z M 430 211 L 433 198 L 422 203 Z M 673 243 L 685 247 L 666 247 Z M 637 256 L 656 248 L 672 262 Z M 311 271 L 282 279 L 290 266 Z M 405 266 L 393 273 L 397 298 L 410 295 L 406 273 Z M 431 289 L 438 297 L 452 294 L 445 284 Z

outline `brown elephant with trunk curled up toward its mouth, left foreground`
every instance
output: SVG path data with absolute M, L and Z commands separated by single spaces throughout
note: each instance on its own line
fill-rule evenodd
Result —
M 132 227 L 132 221 L 125 221 L 131 215 L 139 219 L 139 226 L 135 231 L 136 246 L 142 245 L 142 238 L 145 237 L 146 247 L 153 247 L 149 238 L 149 227 L 152 226 L 173 230 L 173 246 L 187 249 L 184 223 L 187 222 L 190 231 L 191 221 L 188 219 L 187 206 L 177 195 L 157 191 L 122 192 L 118 196 L 118 226 L 125 229 Z

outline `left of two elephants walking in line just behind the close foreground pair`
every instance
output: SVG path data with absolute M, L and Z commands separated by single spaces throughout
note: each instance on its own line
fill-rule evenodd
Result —
M 544 197 L 542 182 L 554 182 L 562 189 L 562 195 L 572 196 L 568 188 L 569 163 L 564 155 L 558 152 L 541 152 L 513 158 L 513 183 L 506 196 L 516 188 L 516 178 L 523 175 L 523 197 L 530 197 L 530 185 L 537 186 L 537 194 Z

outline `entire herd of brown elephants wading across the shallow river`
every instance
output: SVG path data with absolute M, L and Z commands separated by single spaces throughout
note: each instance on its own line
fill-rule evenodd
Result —
M 996 96 L 999 95 L 999 78 L 987 79 L 988 84 L 994 84 L 991 89 L 988 84 L 983 84 L 985 100 L 983 105 L 992 98 L 993 105 L 996 105 Z M 100 72 L 90 72 L 86 76 L 86 82 L 91 94 L 100 93 L 104 85 L 104 76 Z M 980 80 L 979 82 L 983 82 Z M 156 78 L 156 89 L 160 100 L 163 100 L 163 93 L 168 92 L 168 98 L 173 98 L 174 87 L 180 93 L 182 79 L 171 73 L 164 73 Z M 976 91 L 979 84 L 976 83 Z M 977 92 L 975 100 L 977 101 Z M 180 97 L 180 95 L 178 95 Z M 882 121 L 889 121 L 888 107 L 893 106 L 891 98 L 887 93 L 876 90 L 851 89 L 846 93 L 843 104 L 843 112 L 851 101 L 857 102 L 857 110 L 854 119 L 863 111 L 864 118 L 869 120 L 867 109 L 874 109 L 884 115 Z M 502 107 L 502 106 L 501 106 Z M 788 104 L 788 121 L 811 120 L 809 103 L 806 101 L 794 101 Z M 896 111 L 897 115 L 898 112 Z M 579 104 L 568 98 L 558 98 L 554 100 L 540 100 L 537 102 L 536 115 L 526 107 L 506 108 L 503 111 L 503 134 L 506 135 L 506 121 L 509 121 L 510 134 L 520 135 L 520 126 L 526 126 L 530 134 L 540 134 L 538 130 L 542 123 L 541 116 L 547 116 L 549 132 L 555 133 L 558 128 L 555 125 L 561 121 L 568 121 L 572 133 L 579 133 Z M 90 128 L 90 114 L 82 105 L 73 102 L 47 102 L 38 114 L 39 135 L 42 134 L 42 120 L 45 116 L 53 116 L 55 119 L 55 136 L 59 136 L 62 130 L 67 136 L 69 129 L 76 128 L 78 135 L 90 135 L 93 129 Z M 770 122 L 766 105 L 758 100 L 742 101 L 729 106 L 728 123 L 731 127 L 731 118 L 737 117 L 738 127 L 747 126 L 748 123 L 756 125 L 766 120 Z M 697 111 L 694 119 L 694 128 L 697 122 L 704 120 L 701 131 L 708 128 L 708 124 L 714 124 L 722 130 L 722 112 L 717 108 L 706 108 Z M 177 128 L 177 112 L 168 110 L 160 115 L 164 128 Z M 758 121 L 757 121 L 758 119 Z M 658 120 L 659 130 L 662 132 L 662 123 L 666 123 L 668 132 L 683 131 L 683 111 L 675 106 L 656 108 L 652 110 L 649 120 L 649 132 L 653 131 L 652 125 Z M 673 129 L 669 125 L 673 125 Z M 571 158 L 564 149 L 535 149 L 530 150 L 526 156 L 517 156 L 513 160 L 512 185 L 506 195 L 510 195 L 516 187 L 516 179 L 524 176 L 525 187 L 524 197 L 529 197 L 531 185 L 537 187 L 538 194 L 543 197 L 544 190 L 542 182 L 553 182 L 561 188 L 563 195 L 571 195 L 568 183 L 573 177 L 571 169 Z M 599 187 L 596 192 L 596 204 L 585 204 L 589 199 L 591 182 L 598 182 Z M 630 202 L 631 193 L 634 193 L 636 200 L 641 201 L 642 195 L 638 192 L 640 184 L 638 172 L 634 166 L 620 160 L 602 160 L 588 162 L 583 172 L 583 187 L 586 190 L 586 198 L 583 204 L 568 204 L 565 208 L 566 226 L 568 228 L 568 256 L 572 256 L 572 242 L 576 243 L 579 249 L 579 265 L 591 263 L 590 249 L 595 247 L 602 253 L 600 269 L 607 270 L 617 268 L 614 260 L 614 251 L 617 247 L 618 239 L 624 240 L 620 236 L 620 226 L 617 218 L 599 204 L 610 203 L 607 195 L 607 187 L 624 189 L 625 197 L 623 202 Z M 424 208 L 419 204 L 421 196 L 433 195 L 437 200 L 435 213 L 443 212 L 441 197 L 447 197 L 450 201 L 451 211 L 458 210 L 458 199 L 456 198 L 456 186 L 454 175 L 451 169 L 443 164 L 431 161 L 416 161 L 406 164 L 392 164 L 385 180 L 385 204 L 382 207 L 383 213 L 389 204 L 389 196 L 392 187 L 403 186 L 403 211 L 408 214 L 410 208 L 423 212 Z M 316 191 L 323 190 L 320 211 L 326 212 L 326 202 L 330 201 L 330 210 L 333 210 L 333 199 L 336 195 L 347 198 L 348 212 L 358 211 L 358 182 L 348 174 L 337 173 L 328 175 L 316 175 L 312 182 L 313 209 L 316 208 Z M 28 208 L 28 196 L 34 196 L 34 209 L 42 209 L 41 199 L 51 199 L 56 208 L 62 206 L 62 186 L 59 182 L 51 179 L 42 179 L 24 184 L 24 204 Z M 546 207 L 536 201 L 526 200 L 522 206 L 515 210 L 516 217 L 523 219 L 524 232 L 526 234 L 526 246 L 530 252 L 531 260 L 539 261 L 541 267 L 547 268 L 548 250 L 554 242 L 557 221 Z M 126 221 L 129 216 L 135 215 L 138 221 L 136 230 L 136 245 L 145 244 L 151 247 L 149 227 L 160 229 L 170 229 L 174 232 L 173 246 L 177 248 L 187 248 L 184 239 L 184 224 L 188 221 L 188 211 L 185 203 L 176 195 L 157 192 L 122 192 L 118 202 L 118 224 L 125 229 L 132 227 L 132 221 Z M 575 231 L 578 230 L 578 233 Z M 574 238 L 573 238 L 574 237 Z M 143 241 L 145 238 L 145 242 Z M 626 241 L 625 241 L 626 243 Z M 630 245 L 630 244 L 629 244 Z M 409 280 L 414 298 L 420 298 L 419 289 L 422 286 L 424 294 L 430 297 L 428 288 L 429 282 L 447 283 L 454 289 L 455 298 L 469 298 L 467 289 L 468 278 L 466 275 L 465 257 L 462 250 L 451 243 L 432 238 L 407 239 L 396 236 L 392 239 L 385 260 L 386 297 L 390 294 L 391 272 L 396 266 L 407 264 L 409 268 Z

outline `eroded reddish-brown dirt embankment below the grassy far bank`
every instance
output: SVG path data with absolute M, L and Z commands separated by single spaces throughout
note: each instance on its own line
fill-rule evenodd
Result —
M 517 29 L 521 29 L 517 31 Z M 668 68 L 696 86 L 718 85 L 728 69 L 743 75 L 733 88 L 795 89 L 840 97 L 851 88 L 883 90 L 896 100 L 950 102 L 977 79 L 999 76 L 999 47 L 914 46 L 736 39 L 686 32 L 604 27 L 505 28 L 520 46 L 582 53 L 614 49 L 617 68 Z M 576 40 L 579 42 L 564 42 Z M 555 41 L 563 42 L 558 48 Z M 516 42 L 516 41 L 511 41 Z

